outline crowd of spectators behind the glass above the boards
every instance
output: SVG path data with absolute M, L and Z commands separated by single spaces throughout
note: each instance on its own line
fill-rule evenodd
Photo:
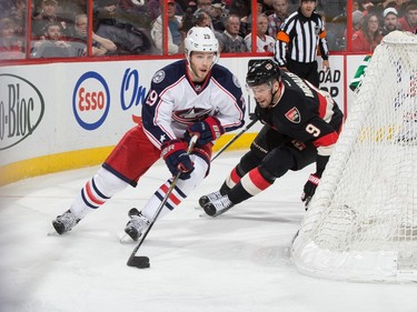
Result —
M 183 53 L 192 26 L 210 27 L 224 53 L 274 52 L 281 24 L 300 0 L 256 0 L 256 11 L 250 0 L 92 0 L 91 26 L 89 0 L 32 0 L 30 23 L 27 3 L 0 3 L 0 59 Z M 347 1 L 317 0 L 330 51 L 346 51 L 350 41 L 353 51 L 368 53 L 393 30 L 416 32 L 417 0 L 355 0 L 351 7 L 347 31 Z

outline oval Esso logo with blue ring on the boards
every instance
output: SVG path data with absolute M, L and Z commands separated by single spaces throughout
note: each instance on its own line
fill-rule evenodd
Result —
M 110 92 L 100 74 L 89 71 L 80 77 L 72 94 L 72 109 L 77 122 L 86 130 L 95 130 L 105 122 Z

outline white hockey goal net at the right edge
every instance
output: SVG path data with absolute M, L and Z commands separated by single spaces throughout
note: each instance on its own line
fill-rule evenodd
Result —
M 291 256 L 310 275 L 417 281 L 417 36 L 377 47 Z

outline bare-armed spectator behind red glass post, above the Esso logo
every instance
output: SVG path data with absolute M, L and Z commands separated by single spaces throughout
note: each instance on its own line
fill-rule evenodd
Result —
M 107 53 L 113 53 L 117 50 L 117 46 L 109 39 L 102 38 L 97 33 L 92 32 L 92 56 L 105 56 Z M 75 37 L 72 38 L 71 44 L 73 48 L 77 47 L 77 43 L 82 43 L 78 48 L 82 48 L 81 51 L 78 51 L 78 56 L 87 56 L 87 42 L 88 42 L 88 17 L 87 14 L 78 14 L 76 17 L 76 27 L 75 27 Z

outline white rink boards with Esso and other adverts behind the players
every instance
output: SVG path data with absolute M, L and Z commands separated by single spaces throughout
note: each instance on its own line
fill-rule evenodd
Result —
M 330 57 L 319 71 L 320 89 L 341 109 L 354 100 L 347 85 L 364 56 Z M 245 88 L 252 58 L 220 59 Z M 172 60 L 48 63 L 0 69 L 0 165 L 41 155 L 115 145 L 140 117 L 155 72 Z M 321 64 L 319 63 L 319 68 Z M 345 73 L 346 71 L 346 73 Z M 346 77 L 346 78 L 345 78 Z M 345 94 L 347 92 L 347 94 Z M 259 125 L 260 127 L 260 125 Z M 254 127 L 252 132 L 259 128 Z

